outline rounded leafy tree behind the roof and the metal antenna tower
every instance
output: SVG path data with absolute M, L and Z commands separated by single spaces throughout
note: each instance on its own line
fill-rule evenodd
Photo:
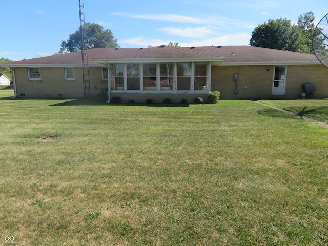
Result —
M 85 47 L 92 48 L 115 48 L 118 46 L 117 39 L 114 38 L 113 33 L 109 29 L 104 29 L 96 23 L 85 23 L 86 30 Z M 74 52 L 81 50 L 81 30 L 80 28 L 73 34 L 70 34 L 67 41 L 61 41 L 61 48 L 59 53 Z

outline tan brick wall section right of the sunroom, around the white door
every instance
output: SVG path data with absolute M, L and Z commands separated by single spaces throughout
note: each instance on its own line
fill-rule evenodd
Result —
M 268 67 L 270 68 L 268 71 Z M 220 91 L 221 99 L 273 98 L 274 67 L 271 66 L 213 66 L 211 90 Z M 237 89 L 233 79 L 238 73 Z M 287 66 L 285 98 L 299 98 L 304 83 L 314 83 L 314 98 L 328 97 L 328 69 L 323 65 Z

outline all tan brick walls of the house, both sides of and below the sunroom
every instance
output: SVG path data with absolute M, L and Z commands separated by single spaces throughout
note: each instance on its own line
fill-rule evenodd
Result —
M 270 70 L 268 71 L 268 67 Z M 75 67 L 75 80 L 65 80 L 63 67 L 40 67 L 42 80 L 28 80 L 27 68 L 12 68 L 16 75 L 17 95 L 26 97 L 63 97 L 79 98 L 84 96 L 82 68 Z M 238 81 L 234 74 L 238 73 Z M 261 99 L 272 98 L 274 66 L 212 66 L 211 90 L 220 91 L 220 99 Z M 287 66 L 285 98 L 299 98 L 304 83 L 314 83 L 314 98 L 328 97 L 328 69 L 323 65 L 289 65 Z M 97 96 L 101 88 L 107 88 L 108 82 L 101 80 L 101 67 L 90 67 L 90 94 Z M 237 93 L 235 94 L 235 87 Z M 179 103 L 182 98 L 191 103 L 200 96 L 206 100 L 207 95 L 159 94 L 159 93 L 112 93 L 120 96 L 122 101 L 135 100 L 145 102 L 152 99 L 161 102 L 170 98 Z

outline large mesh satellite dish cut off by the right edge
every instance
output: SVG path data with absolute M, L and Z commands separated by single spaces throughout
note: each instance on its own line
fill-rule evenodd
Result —
M 320 20 L 314 29 L 312 48 L 320 63 L 328 68 L 328 14 Z

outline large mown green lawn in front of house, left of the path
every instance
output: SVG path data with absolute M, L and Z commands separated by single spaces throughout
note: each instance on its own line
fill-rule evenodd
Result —
M 0 90 L 3 241 L 328 243 L 325 128 L 248 100 L 129 106 L 11 96 Z

